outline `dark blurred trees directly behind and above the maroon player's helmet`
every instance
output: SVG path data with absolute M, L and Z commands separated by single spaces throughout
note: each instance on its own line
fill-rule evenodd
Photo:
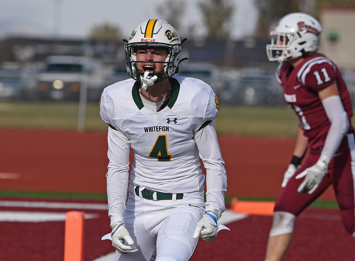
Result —
M 354 0 L 289 0 L 280 3 L 279 0 L 254 0 L 259 11 L 256 38 L 266 38 L 272 27 L 284 15 L 291 12 L 308 13 L 318 19 L 318 14 L 323 6 L 349 6 L 354 5 Z

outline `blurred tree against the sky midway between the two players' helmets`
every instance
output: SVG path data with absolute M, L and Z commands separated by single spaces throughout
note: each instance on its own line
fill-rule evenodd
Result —
M 234 12 L 231 0 L 204 0 L 198 2 L 207 37 L 229 38 L 230 22 Z

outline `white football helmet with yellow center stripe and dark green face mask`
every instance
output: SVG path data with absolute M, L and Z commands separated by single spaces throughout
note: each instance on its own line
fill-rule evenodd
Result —
M 127 73 L 128 75 L 143 83 L 143 87 L 151 86 L 163 79 L 173 76 L 179 70 L 179 63 L 187 58 L 180 60 L 181 44 L 186 40 L 180 40 L 178 32 L 164 20 L 150 19 L 138 25 L 132 32 L 129 40 L 124 39 L 125 51 L 127 59 Z M 168 56 L 164 63 L 161 72 L 139 73 L 137 69 L 136 50 L 137 47 L 159 47 L 168 49 Z

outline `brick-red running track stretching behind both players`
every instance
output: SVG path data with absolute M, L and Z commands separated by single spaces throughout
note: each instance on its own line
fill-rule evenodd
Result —
M 106 193 L 105 132 L 0 129 L 0 137 L 0 173 L 19 177 L 1 179 L 0 190 Z M 294 139 L 220 135 L 219 143 L 227 196 L 276 198 L 281 193 Z M 321 199 L 333 200 L 333 191 Z

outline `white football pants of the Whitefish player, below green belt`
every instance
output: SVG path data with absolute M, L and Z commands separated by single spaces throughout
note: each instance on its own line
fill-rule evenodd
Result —
M 193 238 L 204 211 L 203 191 L 186 193 L 181 200 L 143 199 L 129 186 L 125 226 L 137 252 L 120 254 L 116 261 L 189 260 L 198 238 Z

